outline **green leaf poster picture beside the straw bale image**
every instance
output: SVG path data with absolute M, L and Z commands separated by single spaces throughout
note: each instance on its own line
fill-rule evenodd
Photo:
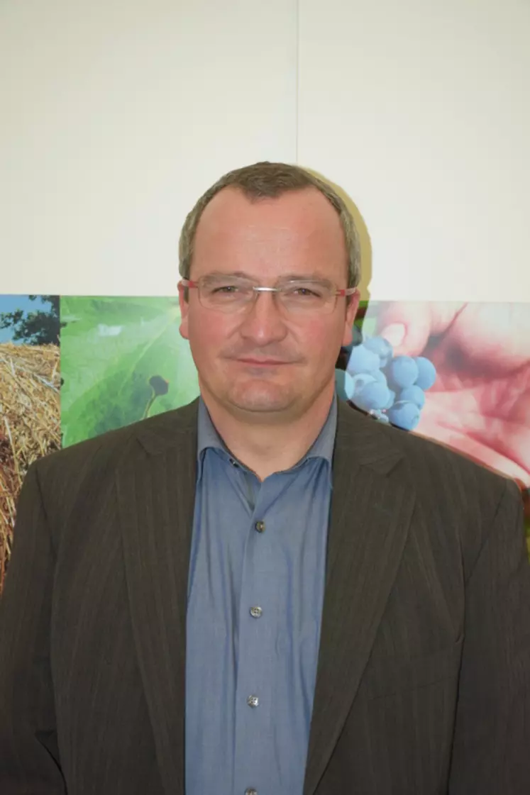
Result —
M 60 320 L 64 447 L 199 394 L 176 299 L 62 297 Z

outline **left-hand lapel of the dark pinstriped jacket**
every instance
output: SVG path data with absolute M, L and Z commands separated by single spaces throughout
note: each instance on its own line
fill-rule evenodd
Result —
M 116 475 L 134 643 L 168 795 L 184 795 L 185 615 L 197 401 L 138 426 Z

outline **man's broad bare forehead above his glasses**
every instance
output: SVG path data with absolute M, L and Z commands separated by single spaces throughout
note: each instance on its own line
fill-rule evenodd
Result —
M 197 225 L 193 260 L 212 255 L 234 260 L 275 256 L 338 259 L 345 262 L 339 215 L 317 188 L 250 199 L 238 188 L 224 188 L 205 207 Z

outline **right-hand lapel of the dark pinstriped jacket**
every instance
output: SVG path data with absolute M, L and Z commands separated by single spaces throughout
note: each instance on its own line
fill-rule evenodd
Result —
M 339 401 L 304 795 L 313 795 L 337 743 L 399 567 L 415 502 L 401 458 L 376 421 Z

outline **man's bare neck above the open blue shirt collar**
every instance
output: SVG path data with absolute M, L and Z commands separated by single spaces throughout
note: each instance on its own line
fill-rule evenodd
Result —
M 273 472 L 293 467 L 317 439 L 333 401 L 334 382 L 306 411 L 289 417 L 260 417 L 232 413 L 201 390 L 213 425 L 236 459 L 264 480 Z

